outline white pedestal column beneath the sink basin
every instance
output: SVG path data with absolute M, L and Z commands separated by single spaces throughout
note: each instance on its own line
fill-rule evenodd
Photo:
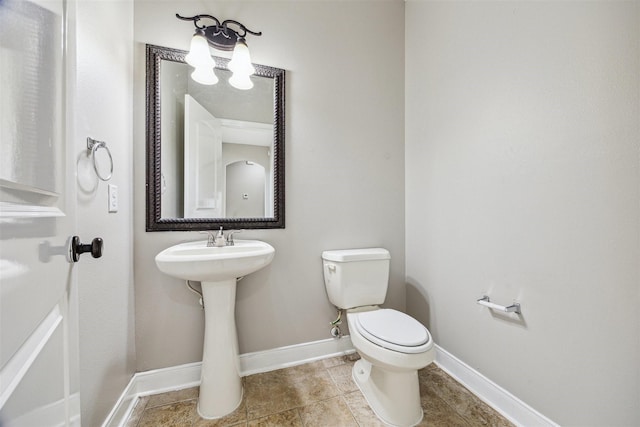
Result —
M 236 279 L 202 282 L 205 306 L 204 350 L 198 414 L 220 418 L 242 402 L 236 332 Z

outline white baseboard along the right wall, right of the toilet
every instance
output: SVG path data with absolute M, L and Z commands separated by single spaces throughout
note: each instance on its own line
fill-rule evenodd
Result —
M 558 424 L 437 345 L 436 364 L 512 423 L 518 426 L 558 426 Z

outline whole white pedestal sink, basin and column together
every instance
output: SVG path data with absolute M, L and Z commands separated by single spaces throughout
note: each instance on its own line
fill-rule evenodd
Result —
M 206 241 L 182 243 L 160 252 L 156 265 L 165 274 L 202 284 L 205 307 L 204 351 L 198 414 L 220 418 L 242 402 L 235 304 L 236 278 L 269 265 L 275 249 L 258 240 L 207 247 Z

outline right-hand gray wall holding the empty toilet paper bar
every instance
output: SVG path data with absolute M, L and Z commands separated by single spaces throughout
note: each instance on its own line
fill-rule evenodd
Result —
M 640 3 L 409 1 L 406 42 L 408 311 L 561 425 L 640 425 Z

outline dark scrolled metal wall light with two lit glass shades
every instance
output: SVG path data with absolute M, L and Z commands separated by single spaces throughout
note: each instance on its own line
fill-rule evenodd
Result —
M 247 33 L 261 36 L 262 32 L 251 31 L 232 19 L 227 19 L 221 23 L 218 18 L 211 15 L 187 17 L 176 13 L 176 18 L 184 21 L 193 21 L 193 25 L 196 27 L 195 34 L 191 39 L 191 48 L 185 57 L 187 64 L 194 68 L 193 73 L 191 73 L 193 80 L 204 85 L 218 83 L 218 77 L 214 72 L 216 63 L 209 51 L 209 46 L 211 46 L 222 51 L 233 50 L 231 61 L 229 61 L 228 65 L 229 70 L 233 73 L 229 78 L 229 84 L 242 90 L 253 87 L 253 82 L 249 76 L 255 73 L 256 70 L 251 64 L 251 55 L 249 54 L 245 36 Z M 199 21 L 203 18 L 211 19 L 215 24 L 202 25 Z M 233 29 L 229 25 L 233 25 L 237 29 Z

